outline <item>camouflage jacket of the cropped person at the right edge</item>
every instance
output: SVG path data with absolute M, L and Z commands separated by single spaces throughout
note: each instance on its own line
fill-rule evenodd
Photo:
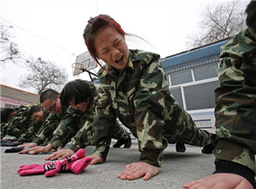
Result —
M 240 163 L 255 172 L 256 40 L 244 29 L 221 47 L 215 89 L 218 160 Z

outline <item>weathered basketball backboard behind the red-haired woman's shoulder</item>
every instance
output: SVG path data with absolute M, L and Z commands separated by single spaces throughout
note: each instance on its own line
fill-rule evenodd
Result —
M 76 62 L 73 63 L 73 76 L 79 75 L 82 72 L 89 71 L 91 69 L 96 68 L 97 63 L 94 60 L 88 51 L 83 54 L 79 54 L 76 57 Z

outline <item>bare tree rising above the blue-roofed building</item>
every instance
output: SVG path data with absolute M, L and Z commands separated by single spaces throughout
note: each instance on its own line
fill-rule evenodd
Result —
M 187 42 L 189 48 L 200 47 L 236 35 L 246 27 L 244 12 L 246 6 L 247 3 L 238 0 L 219 3 L 216 6 L 208 5 L 199 23 L 201 31 L 189 36 Z

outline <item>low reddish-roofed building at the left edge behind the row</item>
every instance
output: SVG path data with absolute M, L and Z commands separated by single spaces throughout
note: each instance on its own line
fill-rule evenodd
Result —
M 1 107 L 17 107 L 20 105 L 26 106 L 31 103 L 39 102 L 39 94 L 33 94 L 25 90 L 11 88 L 0 84 L 0 106 Z

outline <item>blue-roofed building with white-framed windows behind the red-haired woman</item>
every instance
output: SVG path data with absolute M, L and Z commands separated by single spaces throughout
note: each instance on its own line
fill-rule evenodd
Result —
M 218 87 L 220 47 L 228 39 L 161 59 L 177 102 L 198 128 L 214 130 L 214 89 Z

